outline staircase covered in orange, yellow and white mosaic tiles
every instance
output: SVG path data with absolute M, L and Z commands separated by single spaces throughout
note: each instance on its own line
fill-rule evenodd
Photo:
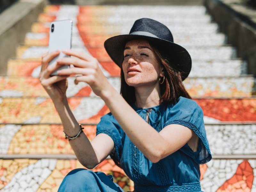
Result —
M 256 191 L 256 98 L 254 78 L 246 62 L 225 44 L 218 25 L 203 6 L 71 6 L 49 5 L 31 27 L 25 44 L 0 76 L 0 191 L 57 191 L 64 176 L 83 167 L 64 139 L 60 118 L 40 85 L 41 55 L 48 50 L 50 22 L 72 19 L 72 49 L 96 57 L 109 82 L 120 88 L 120 69 L 103 42 L 127 34 L 136 19 L 148 17 L 171 29 L 174 42 L 192 58 L 184 81 L 189 94 L 203 108 L 213 159 L 201 165 L 205 192 Z M 109 112 L 86 83 L 68 79 L 69 104 L 90 140 L 100 117 Z M 114 176 L 124 191 L 133 182 L 107 158 L 93 171 Z

